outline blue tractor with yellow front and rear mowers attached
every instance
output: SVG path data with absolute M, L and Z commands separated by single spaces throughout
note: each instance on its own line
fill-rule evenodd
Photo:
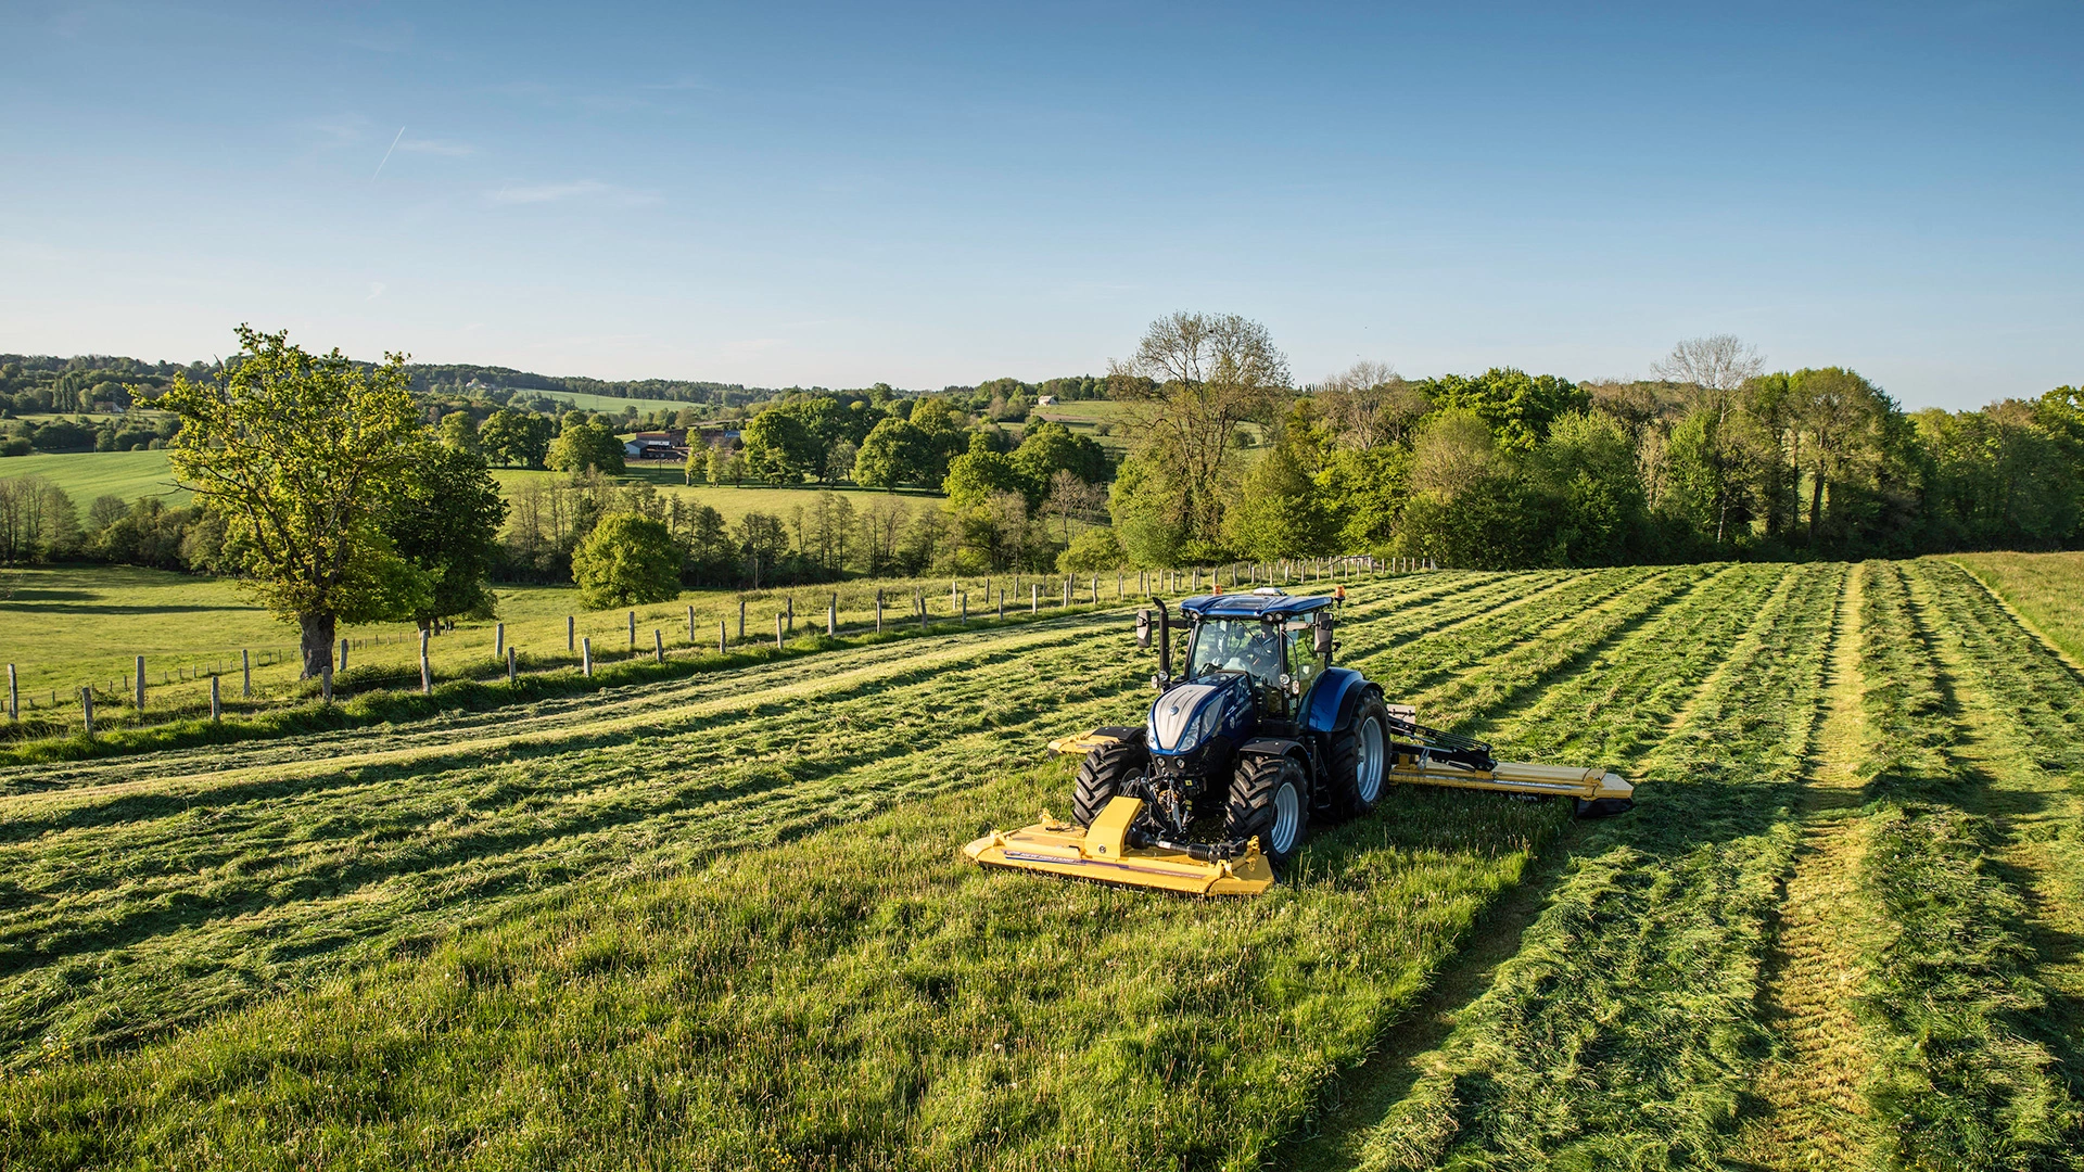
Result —
M 1384 703 L 1380 686 L 1332 665 L 1332 605 L 1273 588 L 1186 599 L 1186 674 L 1173 678 L 1161 601 L 1159 699 L 1144 726 L 1050 742 L 1086 757 L 1071 820 L 994 830 L 963 853 L 994 868 L 1259 895 L 1313 817 L 1369 813 L 1392 782 L 1567 797 L 1580 815 L 1634 807 L 1634 786 L 1609 770 L 1496 761 L 1488 744 Z M 1140 611 L 1140 646 L 1150 628 Z

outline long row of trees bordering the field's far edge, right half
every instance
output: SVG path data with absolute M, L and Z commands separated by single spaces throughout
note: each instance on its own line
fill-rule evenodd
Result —
M 2074 388 L 1903 413 L 1842 367 L 1765 373 L 1682 342 L 1655 384 L 1400 380 L 1290 390 L 1265 329 L 1173 315 L 1115 365 L 1140 442 L 1086 557 L 1142 565 L 1403 553 L 1469 567 L 2059 548 L 2084 540 Z M 1265 428 L 1252 459 L 1240 444 Z

